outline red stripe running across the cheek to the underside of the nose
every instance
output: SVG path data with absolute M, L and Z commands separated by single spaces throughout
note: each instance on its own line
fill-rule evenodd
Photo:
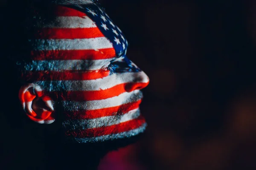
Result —
M 67 91 L 67 98 L 64 100 L 70 101 L 84 101 L 84 100 L 102 100 L 108 99 L 114 96 L 119 96 L 122 93 L 127 92 L 126 86 L 133 87 L 144 87 L 147 86 L 148 83 L 123 83 L 116 85 L 112 88 L 108 88 L 106 90 L 99 91 Z M 135 89 L 134 89 L 135 90 Z M 130 91 L 129 91 L 130 92 Z

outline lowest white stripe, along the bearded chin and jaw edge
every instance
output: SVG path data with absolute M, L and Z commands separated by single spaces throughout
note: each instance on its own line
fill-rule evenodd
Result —
M 139 133 L 143 133 L 147 127 L 147 123 L 144 123 L 141 127 L 137 129 L 133 129 L 130 131 L 117 133 L 117 134 L 111 134 L 111 135 L 104 135 L 104 136 L 97 136 L 97 137 L 91 137 L 91 138 L 72 138 L 70 137 L 70 140 L 72 142 L 78 142 L 78 143 L 89 143 L 89 142 L 104 142 L 106 140 L 113 140 L 113 139 L 122 139 L 122 138 L 128 138 L 131 136 L 136 136 Z

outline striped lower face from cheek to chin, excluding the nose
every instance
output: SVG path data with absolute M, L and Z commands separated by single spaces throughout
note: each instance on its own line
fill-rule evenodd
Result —
M 79 142 L 95 142 L 134 136 L 145 130 L 140 115 L 140 91 L 124 92 L 125 77 L 112 74 L 95 80 L 76 81 L 68 87 L 63 122 L 66 135 Z

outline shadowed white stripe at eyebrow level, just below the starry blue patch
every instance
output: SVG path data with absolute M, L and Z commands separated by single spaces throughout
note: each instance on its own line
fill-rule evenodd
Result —
M 95 60 L 33 60 L 25 66 L 26 71 L 99 70 L 106 68 L 112 59 Z

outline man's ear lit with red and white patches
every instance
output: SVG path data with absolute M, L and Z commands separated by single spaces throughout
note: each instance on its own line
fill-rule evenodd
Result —
M 40 124 L 55 121 L 52 100 L 45 95 L 39 86 L 31 83 L 20 88 L 19 99 L 29 119 Z

